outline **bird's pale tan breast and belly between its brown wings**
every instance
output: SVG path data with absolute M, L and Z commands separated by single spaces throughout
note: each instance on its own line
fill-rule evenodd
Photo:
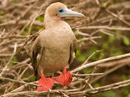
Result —
M 59 28 L 59 29 L 58 29 Z M 40 33 L 42 64 L 45 72 L 55 72 L 68 65 L 70 45 L 73 40 L 73 32 L 66 26 L 56 27 Z

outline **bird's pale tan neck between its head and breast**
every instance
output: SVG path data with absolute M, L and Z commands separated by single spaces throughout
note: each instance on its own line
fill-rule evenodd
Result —
M 45 15 L 44 17 L 44 24 L 46 29 L 58 26 L 61 22 L 63 21 L 56 16 L 50 17 L 49 15 Z

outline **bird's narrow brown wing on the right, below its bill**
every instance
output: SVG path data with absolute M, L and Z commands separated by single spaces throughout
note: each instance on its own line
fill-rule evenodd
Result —
M 69 61 L 68 61 L 69 64 L 72 64 L 72 62 L 73 62 L 73 60 L 74 60 L 74 58 L 75 58 L 76 45 L 77 45 L 77 40 L 76 40 L 76 38 L 75 38 L 75 36 L 74 36 L 73 42 L 72 42 L 71 45 L 70 45 L 70 57 L 69 57 Z

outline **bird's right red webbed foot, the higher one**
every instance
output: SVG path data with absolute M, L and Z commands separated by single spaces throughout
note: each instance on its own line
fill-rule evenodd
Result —
M 63 73 L 55 77 L 55 79 L 59 84 L 68 86 L 72 81 L 72 74 L 69 71 L 66 71 L 66 68 L 64 68 Z

